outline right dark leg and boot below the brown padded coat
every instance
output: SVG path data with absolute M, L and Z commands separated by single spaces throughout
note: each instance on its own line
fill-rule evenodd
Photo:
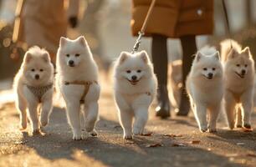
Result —
M 180 38 L 182 42 L 182 97 L 177 115 L 187 116 L 190 110 L 189 99 L 186 92 L 187 74 L 190 72 L 192 66 L 192 55 L 197 52 L 196 37 L 194 35 L 187 35 Z

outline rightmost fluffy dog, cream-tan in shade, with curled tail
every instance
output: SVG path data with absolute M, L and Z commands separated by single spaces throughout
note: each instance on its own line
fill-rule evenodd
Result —
M 251 128 L 255 73 L 253 57 L 248 47 L 242 50 L 233 40 L 223 41 L 221 47 L 225 78 L 224 106 L 228 126 L 230 129 L 234 128 L 234 113 L 238 107 L 236 126 Z

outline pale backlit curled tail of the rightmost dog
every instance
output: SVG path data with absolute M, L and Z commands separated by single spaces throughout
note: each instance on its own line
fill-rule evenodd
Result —
M 241 45 L 234 41 L 233 39 L 225 39 L 220 43 L 221 46 L 221 58 L 225 62 L 228 58 L 228 53 L 232 48 L 236 49 L 238 52 L 242 50 Z

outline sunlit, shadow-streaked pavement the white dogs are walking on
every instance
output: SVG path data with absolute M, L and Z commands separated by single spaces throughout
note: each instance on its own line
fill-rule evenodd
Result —
M 102 78 L 97 137 L 73 141 L 64 109 L 54 108 L 45 135 L 18 130 L 13 103 L 0 109 L 0 166 L 255 166 L 256 131 L 230 131 L 218 124 L 217 134 L 202 134 L 188 118 L 151 116 L 150 136 L 122 139 L 110 80 Z M 253 125 L 256 114 L 253 114 Z M 168 136 L 168 134 L 170 134 Z M 156 147 L 151 147 L 151 146 Z

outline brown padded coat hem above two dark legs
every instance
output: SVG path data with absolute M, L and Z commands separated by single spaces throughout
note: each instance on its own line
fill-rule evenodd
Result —
M 132 0 L 131 30 L 137 35 L 151 0 Z M 146 36 L 153 33 L 170 38 L 212 33 L 213 0 L 156 0 Z

